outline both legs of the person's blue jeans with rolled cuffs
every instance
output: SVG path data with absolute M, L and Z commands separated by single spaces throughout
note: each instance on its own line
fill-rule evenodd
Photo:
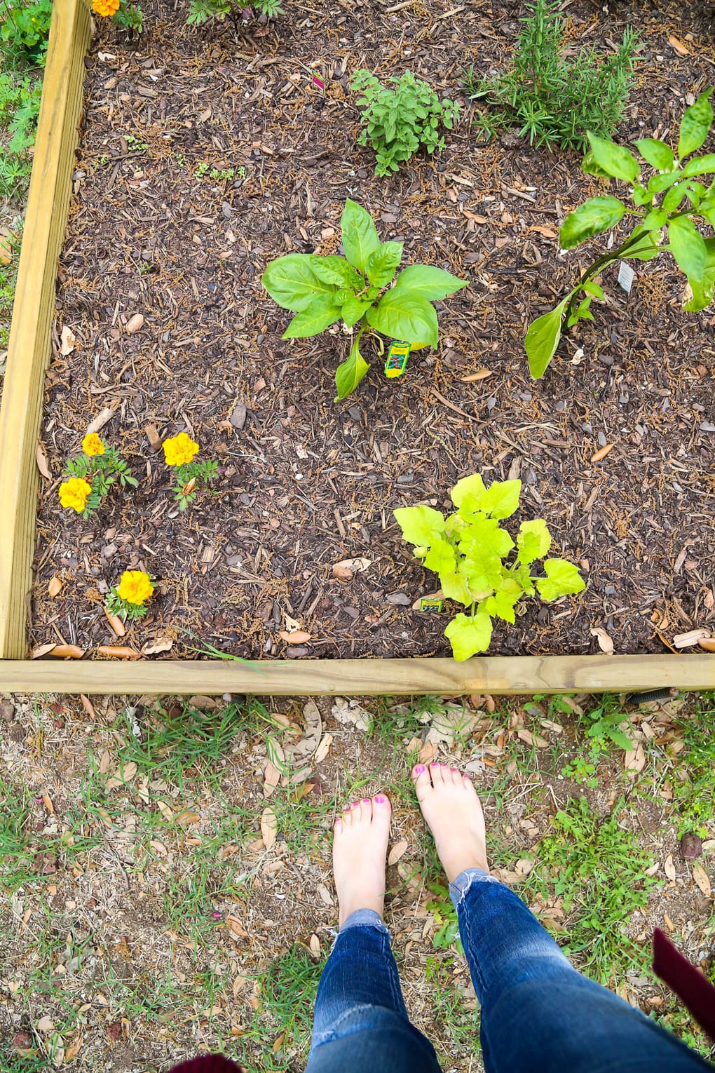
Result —
M 478 868 L 450 884 L 481 1006 L 487 1073 L 696 1073 L 704 1059 L 582 976 L 507 886 Z M 343 924 L 315 1000 L 307 1073 L 438 1073 L 411 1025 L 390 937 L 362 909 Z

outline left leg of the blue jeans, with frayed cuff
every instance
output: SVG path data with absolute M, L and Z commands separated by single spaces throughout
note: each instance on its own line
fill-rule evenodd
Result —
M 440 1073 L 432 1044 L 411 1025 L 389 931 L 360 909 L 343 924 L 315 998 L 307 1073 Z

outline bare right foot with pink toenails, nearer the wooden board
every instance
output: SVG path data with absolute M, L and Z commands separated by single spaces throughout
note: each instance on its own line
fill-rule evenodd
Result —
M 417 764 L 412 777 L 449 882 L 465 868 L 489 871 L 485 818 L 470 777 L 447 764 Z

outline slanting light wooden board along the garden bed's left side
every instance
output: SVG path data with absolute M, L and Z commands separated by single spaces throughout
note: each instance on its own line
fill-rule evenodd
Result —
M 0 657 L 5 659 L 27 651 L 35 450 L 89 40 L 87 0 L 55 3 L 0 408 Z

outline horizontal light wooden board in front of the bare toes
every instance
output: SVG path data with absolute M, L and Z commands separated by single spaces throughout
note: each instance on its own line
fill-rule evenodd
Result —
M 600 693 L 715 689 L 715 657 L 486 656 L 408 660 L 6 660 L 0 692 L 254 693 L 274 696 L 427 693 Z

